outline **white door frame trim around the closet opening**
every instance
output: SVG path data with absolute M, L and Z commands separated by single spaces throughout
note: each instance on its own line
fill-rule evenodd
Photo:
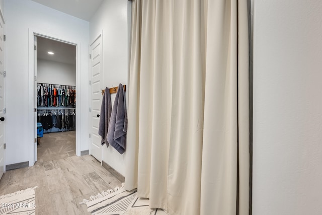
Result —
M 29 118 L 29 166 L 33 166 L 35 163 L 35 119 L 34 119 L 34 100 L 35 100 L 35 55 L 34 55 L 34 36 L 45 37 L 52 40 L 57 40 L 59 42 L 68 43 L 75 45 L 76 47 L 76 156 L 81 156 L 81 132 L 77 132 L 81 128 L 81 93 L 82 93 L 82 82 L 81 82 L 81 42 L 74 40 L 73 38 L 66 38 L 64 35 L 56 35 L 50 32 L 46 32 L 40 29 L 28 29 L 28 41 L 29 41 L 29 107 L 28 107 L 28 118 Z

